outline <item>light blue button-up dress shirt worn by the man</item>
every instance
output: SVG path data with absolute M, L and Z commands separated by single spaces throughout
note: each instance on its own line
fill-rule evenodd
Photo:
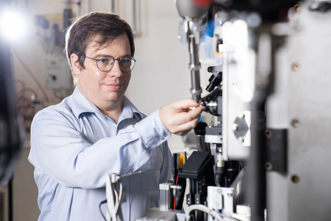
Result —
M 61 104 L 39 111 L 28 157 L 39 190 L 39 221 L 103 221 L 99 203 L 106 199 L 106 176 L 138 169 L 163 168 L 123 180 L 124 220 L 158 207 L 159 184 L 171 177 L 170 135 L 159 110 L 146 116 L 124 97 L 116 124 L 77 87 Z M 101 208 L 106 214 L 106 204 Z

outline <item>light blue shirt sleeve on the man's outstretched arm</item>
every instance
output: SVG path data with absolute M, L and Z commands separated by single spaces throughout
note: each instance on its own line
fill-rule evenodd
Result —
M 117 136 L 90 144 L 61 113 L 41 112 L 31 124 L 29 161 L 61 185 L 99 188 L 110 173 L 136 171 L 170 135 L 158 110 Z

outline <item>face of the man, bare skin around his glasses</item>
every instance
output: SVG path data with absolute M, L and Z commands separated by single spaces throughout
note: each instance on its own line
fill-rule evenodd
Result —
M 101 55 L 110 55 L 114 59 L 131 56 L 130 43 L 126 34 L 120 35 L 113 42 L 102 49 L 95 45 L 95 37 L 86 48 L 86 55 L 97 59 Z M 77 85 L 79 90 L 92 102 L 103 105 L 123 99 L 124 93 L 131 78 L 130 72 L 123 72 L 119 67 L 119 61 L 114 61 L 114 66 L 108 72 L 103 72 L 97 67 L 95 60 L 85 58 L 85 69 L 77 71 Z

